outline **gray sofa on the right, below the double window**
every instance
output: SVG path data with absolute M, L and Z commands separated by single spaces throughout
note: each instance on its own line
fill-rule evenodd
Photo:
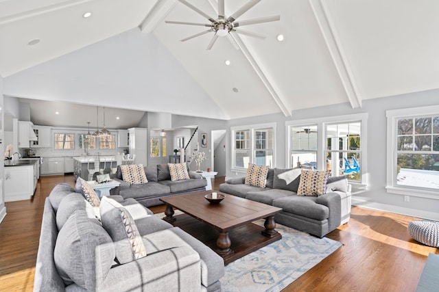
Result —
M 322 196 L 297 196 L 297 171 L 300 173 L 300 169 L 270 169 L 265 188 L 246 185 L 244 177 L 231 178 L 219 185 L 219 191 L 282 208 L 274 215 L 276 222 L 317 237 L 346 224 L 351 217 L 351 185 L 347 178 L 330 177 L 327 194 Z

